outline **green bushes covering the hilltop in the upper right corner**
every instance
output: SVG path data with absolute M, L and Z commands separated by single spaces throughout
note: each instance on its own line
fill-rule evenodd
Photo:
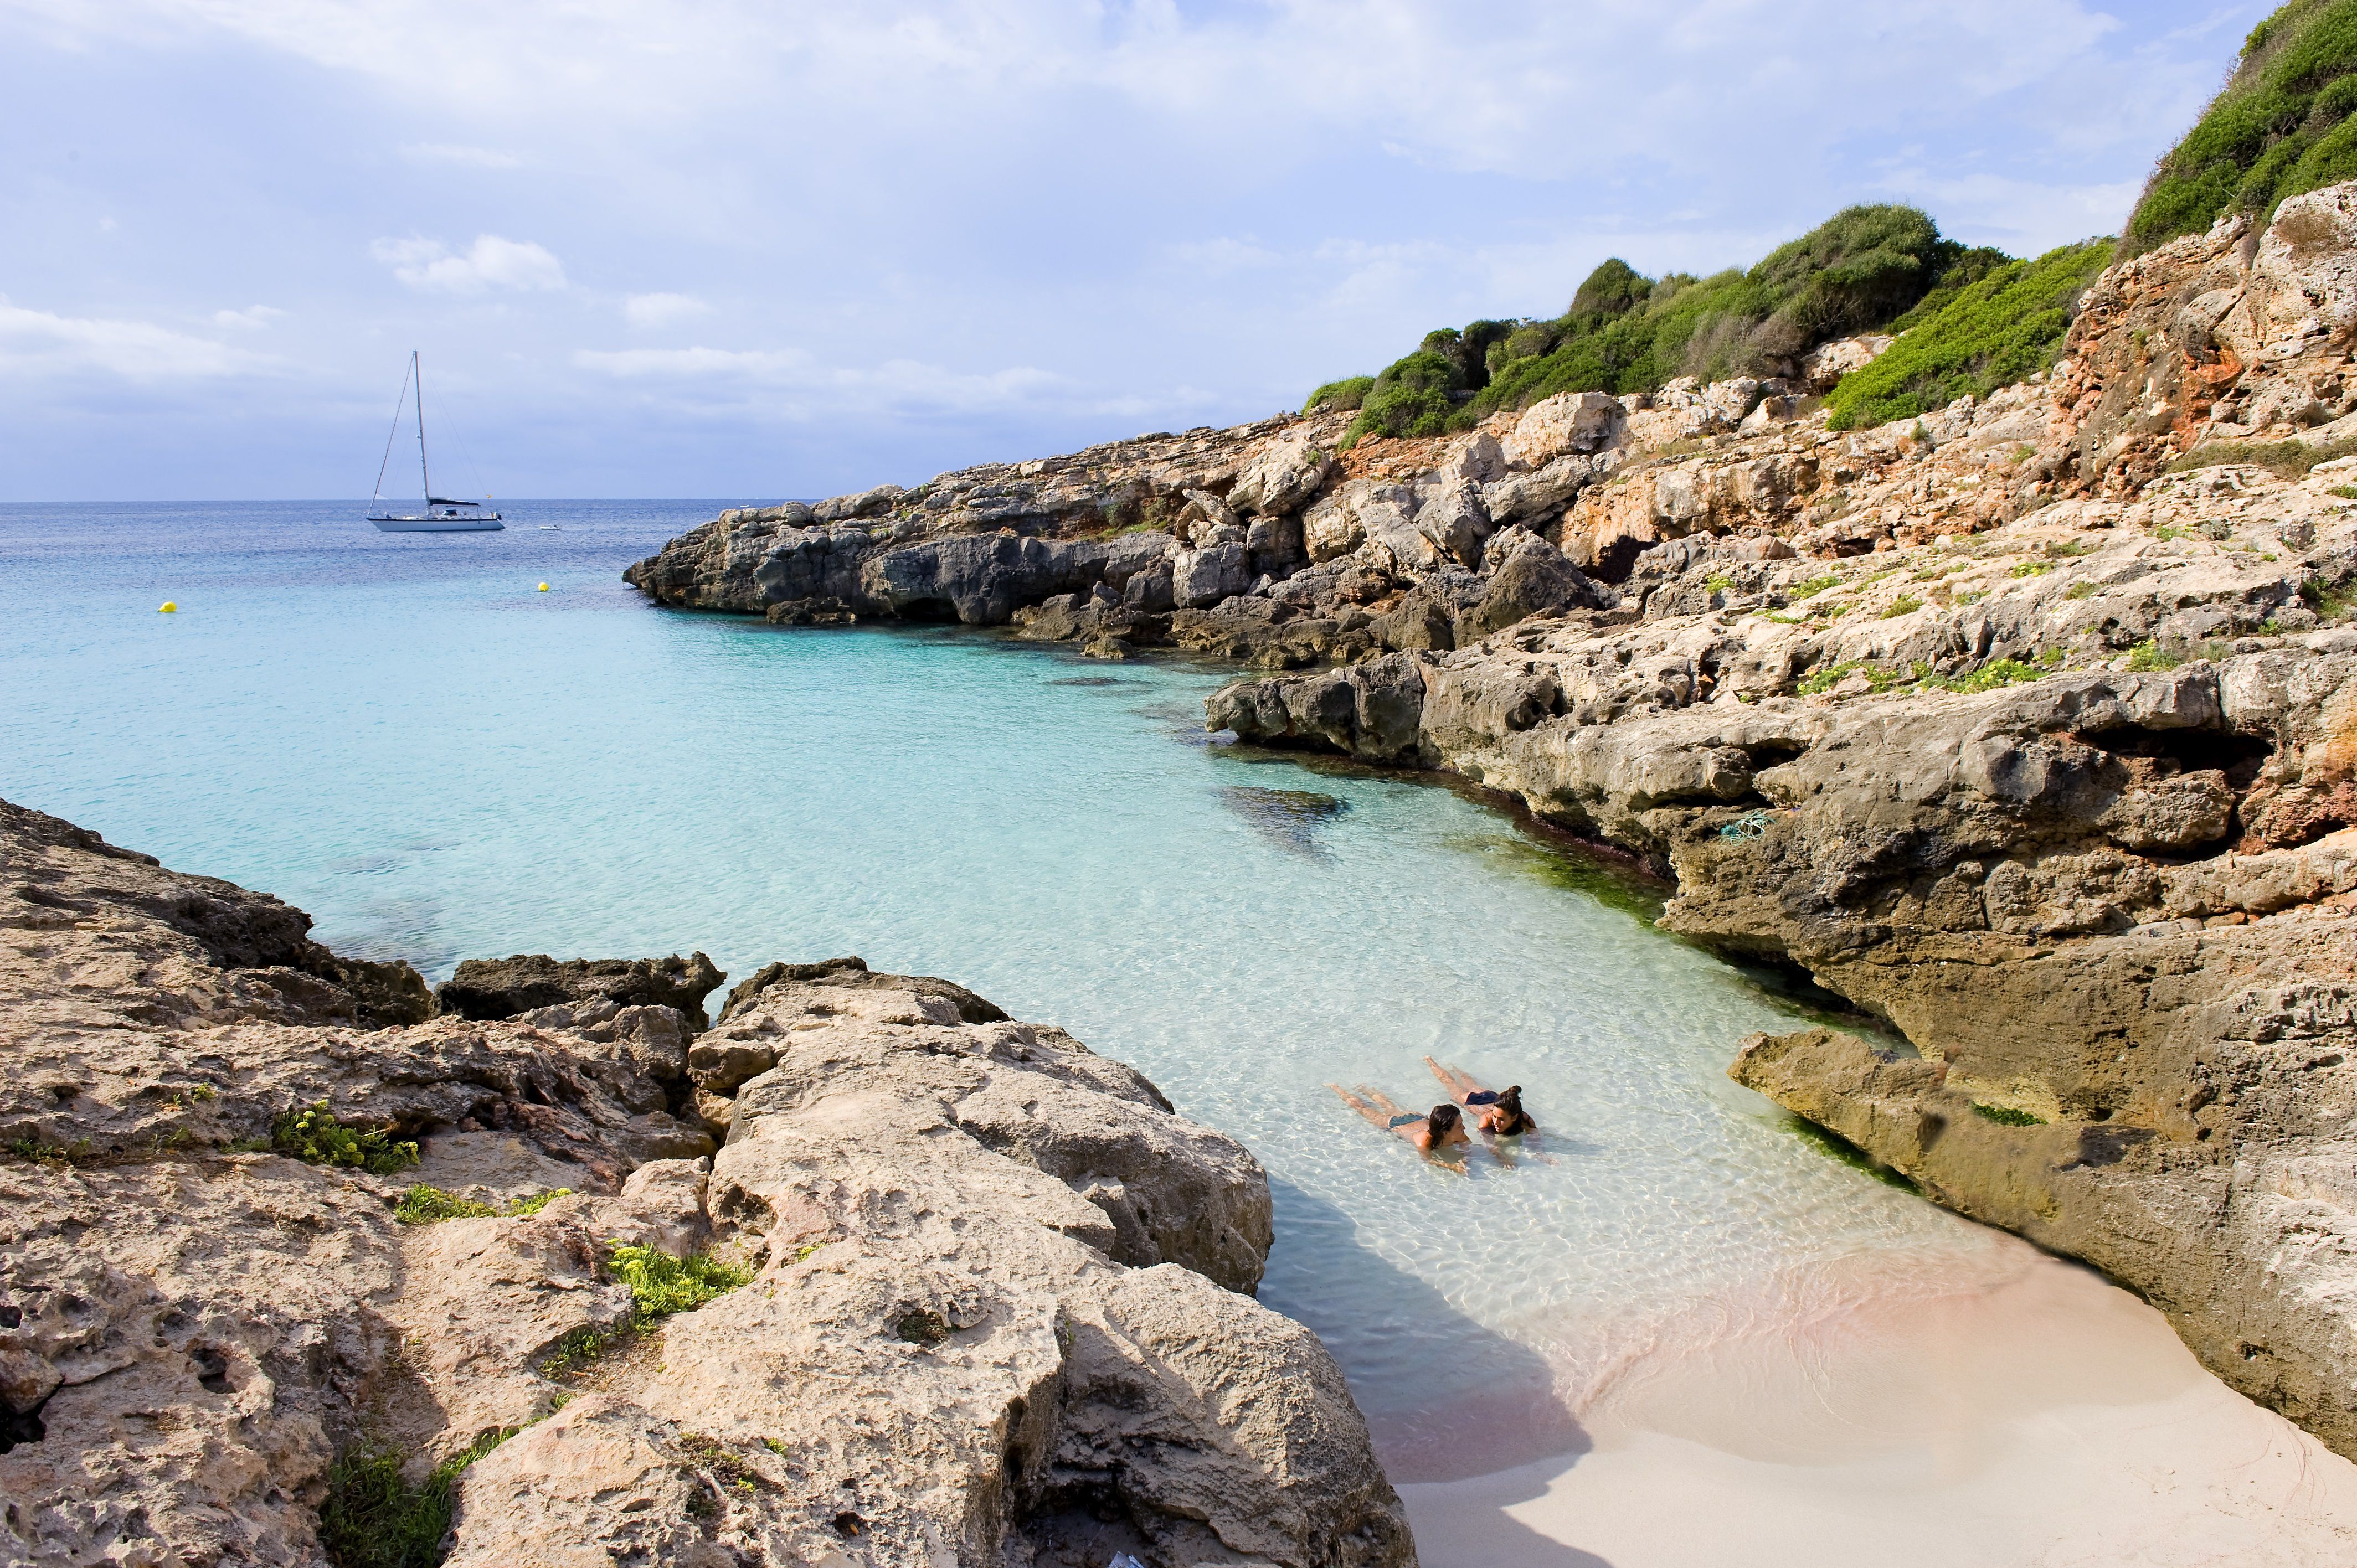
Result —
M 2357 179 L 2357 0 L 2291 0 L 2145 184 L 2121 250 L 2201 233 L 2227 212 L 2265 222 L 2303 191 Z

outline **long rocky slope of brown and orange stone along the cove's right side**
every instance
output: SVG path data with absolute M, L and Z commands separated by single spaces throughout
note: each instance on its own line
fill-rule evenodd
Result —
M 2018 387 L 1829 429 L 1886 347 L 726 512 L 629 580 L 1230 658 L 1211 729 L 1643 856 L 1669 929 L 1921 1052 L 1754 1040 L 1742 1082 L 2357 1455 L 2357 184 L 2119 262 Z

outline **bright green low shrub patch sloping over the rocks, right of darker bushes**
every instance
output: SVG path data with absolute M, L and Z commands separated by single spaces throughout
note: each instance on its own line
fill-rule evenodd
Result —
M 1980 252 L 1975 252 L 1980 255 Z M 1827 394 L 1831 429 L 1888 424 L 1987 396 L 2044 370 L 2062 354 L 2069 304 L 2112 255 L 2110 241 L 2048 250 L 2036 262 L 2006 262 L 1949 292 L 1871 365 L 1841 377 Z

